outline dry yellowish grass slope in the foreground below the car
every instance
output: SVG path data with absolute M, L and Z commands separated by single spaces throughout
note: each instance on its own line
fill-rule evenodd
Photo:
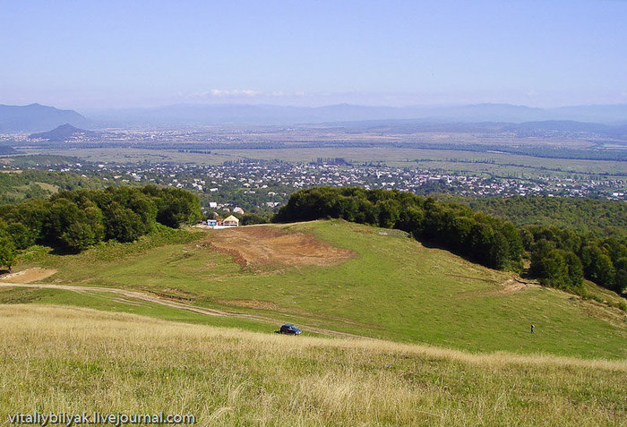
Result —
M 623 425 L 627 364 L 283 337 L 0 305 L 0 418 L 193 414 L 197 425 Z

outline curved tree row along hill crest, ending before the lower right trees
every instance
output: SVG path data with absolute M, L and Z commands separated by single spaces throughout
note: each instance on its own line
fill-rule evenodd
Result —
M 293 193 L 274 222 L 343 218 L 398 228 L 415 238 L 494 269 L 521 269 L 523 244 L 511 222 L 459 203 L 442 203 L 410 192 L 316 187 Z

